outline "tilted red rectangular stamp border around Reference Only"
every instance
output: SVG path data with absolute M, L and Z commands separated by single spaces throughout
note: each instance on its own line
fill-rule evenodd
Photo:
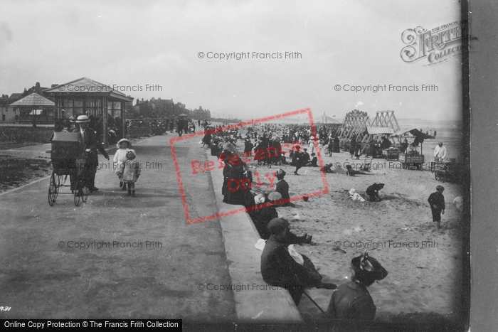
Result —
M 300 109 L 300 110 L 297 110 L 297 111 L 291 111 L 291 112 L 287 112 L 287 113 L 272 115 L 270 117 L 263 117 L 261 119 L 255 119 L 255 120 L 252 120 L 252 121 L 240 122 L 238 124 L 231 124 L 231 125 L 228 125 L 226 127 L 221 127 L 221 128 L 216 128 L 216 129 L 209 129 L 208 131 L 204 131 L 204 132 L 198 132 L 198 133 L 194 133 L 194 134 L 187 134 L 186 136 L 177 136 L 177 137 L 174 137 L 174 138 L 170 139 L 169 140 L 169 145 L 171 147 L 171 155 L 173 156 L 173 160 L 174 160 L 174 166 L 175 166 L 175 170 L 176 170 L 176 179 L 178 180 L 178 185 L 179 185 L 179 188 L 180 188 L 181 201 L 182 201 L 182 203 L 184 205 L 186 222 L 188 224 L 200 223 L 201 221 L 205 221 L 205 220 L 211 220 L 211 219 L 216 219 L 216 218 L 223 218 L 223 217 L 226 217 L 227 215 L 234 215 L 236 213 L 245 212 L 246 209 L 245 208 L 240 208 L 238 210 L 228 211 L 228 212 L 225 212 L 225 213 L 217 213 L 216 215 L 208 215 L 206 217 L 201 217 L 201 218 L 197 218 L 197 219 L 190 219 L 189 206 L 187 205 L 187 201 L 186 201 L 184 184 L 181 181 L 180 167 L 178 165 L 178 160 L 176 159 L 176 151 L 174 149 L 174 143 L 176 141 L 183 141 L 184 139 L 191 139 L 191 138 L 196 137 L 196 136 L 204 136 L 205 134 L 211 134 L 213 132 L 221 132 L 221 131 L 229 130 L 229 129 L 232 129 L 232 128 L 235 128 L 235 127 L 244 127 L 244 126 L 247 126 L 248 124 L 258 124 L 258 123 L 261 123 L 261 122 L 268 122 L 268 121 L 273 120 L 273 119 L 280 119 L 282 117 L 292 117 L 293 115 L 299 115 L 299 114 L 304 114 L 304 113 L 307 114 L 308 119 L 309 119 L 309 124 L 310 124 L 311 129 L 312 129 L 312 136 L 314 137 L 314 142 L 315 142 L 315 146 L 316 146 L 316 149 L 317 149 L 317 159 L 319 161 L 319 167 L 320 167 L 320 170 L 322 172 L 322 181 L 324 183 L 324 190 L 322 190 L 322 191 L 316 191 L 314 193 L 307 193 L 307 194 L 304 194 L 304 195 L 301 195 L 301 196 L 291 197 L 291 198 L 289 198 L 289 200 L 283 200 L 283 202 L 284 203 L 287 202 L 287 201 L 288 202 L 292 202 L 292 201 L 295 201 L 295 200 L 302 200 L 302 198 L 304 198 L 305 196 L 306 197 L 314 197 L 314 196 L 319 196 L 319 195 L 323 195 L 323 194 L 329 193 L 329 186 L 328 186 L 328 183 L 327 183 L 327 175 L 326 175 L 326 173 L 324 171 L 324 165 L 323 165 L 323 161 L 322 161 L 322 153 L 320 152 L 319 144 L 318 144 L 318 141 L 317 141 L 317 131 L 316 131 L 315 127 L 314 127 L 312 111 L 309 108 Z M 263 205 L 263 206 L 265 206 L 265 205 Z

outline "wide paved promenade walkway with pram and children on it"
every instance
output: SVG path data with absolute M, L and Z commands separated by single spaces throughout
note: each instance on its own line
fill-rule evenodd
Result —
M 134 146 L 143 166 L 136 198 L 120 191 L 102 156 L 100 191 L 79 207 L 63 194 L 49 206 L 48 179 L 0 196 L 0 305 L 12 308 L 1 318 L 234 320 L 231 291 L 198 290 L 231 279 L 218 220 L 185 222 L 170 138 Z M 176 151 L 181 168 L 206 160 L 194 140 Z M 208 173 L 184 181 L 194 217 L 217 212 Z

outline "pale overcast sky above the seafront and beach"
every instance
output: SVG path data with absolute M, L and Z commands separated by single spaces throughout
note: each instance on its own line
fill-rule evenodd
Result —
M 173 98 L 242 119 L 306 107 L 314 117 L 356 108 L 372 117 L 389 109 L 398 118 L 459 119 L 460 56 L 438 65 L 400 56 L 406 29 L 454 21 L 460 4 L 445 0 L 2 1 L 0 94 L 88 77 L 141 87 L 124 92 L 134 98 Z M 233 52 L 250 58 L 208 59 Z M 419 91 L 344 91 L 390 84 Z M 422 92 L 422 84 L 438 91 Z

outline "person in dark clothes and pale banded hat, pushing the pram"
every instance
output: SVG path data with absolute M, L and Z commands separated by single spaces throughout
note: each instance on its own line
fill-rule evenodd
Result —
M 95 187 L 95 173 L 97 173 L 97 164 L 99 163 L 97 150 L 109 160 L 109 155 L 102 146 L 102 142 L 95 130 L 88 128 L 90 119 L 86 115 L 80 115 L 76 119 L 76 123 L 80 125 L 80 134 L 83 138 L 83 146 L 85 151 L 85 170 L 82 176 L 85 186 L 88 187 L 90 192 L 98 191 L 99 188 Z

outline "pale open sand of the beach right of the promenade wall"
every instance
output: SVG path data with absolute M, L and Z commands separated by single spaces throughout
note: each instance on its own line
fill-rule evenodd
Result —
M 425 141 L 426 161 L 432 160 L 437 142 Z M 243 142 L 239 141 L 240 148 L 243 149 Z M 344 168 L 348 163 L 363 164 L 365 158 L 351 160 L 347 152 L 329 157 L 322 151 L 322 160 L 324 164 L 339 163 Z M 258 166 L 255 161 L 249 165 L 253 173 L 284 169 L 291 198 L 324 189 L 319 168 L 303 167 L 300 176 L 295 176 L 295 167 L 290 165 L 269 168 Z M 350 277 L 351 259 L 369 249 L 369 254 L 389 273 L 386 279 L 369 287 L 378 321 L 393 321 L 407 314 L 419 319 L 431 315 L 455 319 L 462 282 L 462 218 L 452 201 L 460 196 L 461 186 L 436 181 L 428 167 L 421 171 L 402 169 L 398 161 L 373 159 L 372 168 L 369 175 L 346 176 L 333 167 L 338 173 L 326 173 L 328 193 L 307 202 L 298 200 L 292 207 L 277 208 L 281 218 L 290 220 L 293 232 L 313 235 L 312 244 L 297 245 L 297 251 L 312 259 L 324 281 L 342 284 Z M 373 183 L 385 184 L 380 191 L 381 202 L 361 203 L 349 198 L 351 188 L 366 198 L 366 188 Z M 441 232 L 435 230 L 427 203 L 438 185 L 445 187 L 446 201 Z M 270 182 L 265 180 L 265 186 L 256 187 L 255 191 L 272 191 L 268 186 Z M 332 291 L 309 289 L 308 294 L 322 309 L 327 309 Z M 302 297 L 299 309 L 304 318 L 323 318 L 306 296 Z

